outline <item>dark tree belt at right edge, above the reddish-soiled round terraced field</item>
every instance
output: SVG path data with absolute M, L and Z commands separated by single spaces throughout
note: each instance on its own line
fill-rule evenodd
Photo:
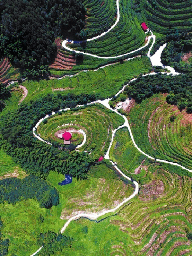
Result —
M 127 95 L 137 102 L 151 97 L 155 93 L 169 93 L 167 103 L 177 105 L 180 110 L 192 113 L 192 73 L 167 76 L 158 73 L 153 76 L 139 76 L 125 88 Z

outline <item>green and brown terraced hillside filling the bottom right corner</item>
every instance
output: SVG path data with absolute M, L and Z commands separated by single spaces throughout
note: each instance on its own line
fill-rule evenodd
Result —
M 66 255 L 74 251 L 75 255 L 191 255 L 192 244 L 187 239 L 187 233 L 192 232 L 191 178 L 170 173 L 159 164 L 153 165 L 149 174 L 148 189 L 141 185 L 140 191 L 145 189 L 150 199 L 139 195 L 100 223 L 82 218 L 71 222 L 65 233 L 78 239 Z M 159 184 L 163 186 L 157 196 Z M 87 236 L 82 232 L 85 226 Z

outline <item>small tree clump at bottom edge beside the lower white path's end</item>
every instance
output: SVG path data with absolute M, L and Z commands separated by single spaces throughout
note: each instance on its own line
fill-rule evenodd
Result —
M 66 237 L 61 233 L 56 234 L 53 231 L 41 233 L 37 237 L 38 246 L 43 246 L 42 250 L 37 254 L 39 256 L 51 256 L 61 253 L 66 247 L 71 247 L 73 239 Z

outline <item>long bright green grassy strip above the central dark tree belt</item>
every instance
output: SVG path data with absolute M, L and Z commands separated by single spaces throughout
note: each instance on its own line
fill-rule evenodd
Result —
M 56 88 L 63 88 L 64 91 L 54 91 L 54 93 L 95 93 L 98 97 L 105 99 L 114 96 L 126 79 L 147 72 L 150 67 L 149 58 L 142 57 L 125 61 L 123 64 L 117 63 L 95 72 L 81 72 L 77 76 L 61 80 L 26 81 L 23 85 L 28 89 L 28 96 L 24 102 L 52 93 Z

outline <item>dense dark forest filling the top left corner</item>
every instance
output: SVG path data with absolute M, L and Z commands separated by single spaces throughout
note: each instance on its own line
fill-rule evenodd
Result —
M 55 58 L 56 37 L 85 38 L 86 9 L 81 0 L 1 0 L 0 54 L 24 76 L 46 76 Z

